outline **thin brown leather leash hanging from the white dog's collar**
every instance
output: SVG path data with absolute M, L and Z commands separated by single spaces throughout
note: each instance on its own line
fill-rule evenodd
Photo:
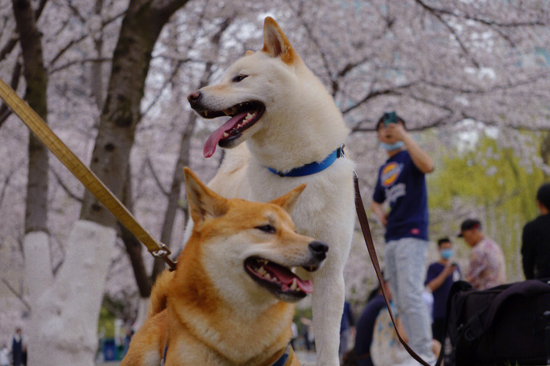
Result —
M 409 345 L 403 340 L 403 338 L 399 334 L 399 330 L 397 330 L 397 325 L 395 324 L 395 318 L 393 317 L 392 309 L 389 306 L 388 294 L 386 293 L 386 289 L 384 287 L 384 280 L 382 278 L 380 265 L 378 264 L 378 257 L 376 256 L 375 245 L 372 241 L 371 228 L 368 225 L 365 206 L 363 206 L 363 200 L 361 199 L 361 192 L 359 191 L 359 179 L 357 178 L 357 174 L 355 173 L 355 171 L 353 172 L 353 183 L 355 186 L 355 210 L 357 211 L 357 218 L 359 219 L 359 224 L 361 225 L 361 232 L 363 234 L 363 237 L 365 238 L 365 243 L 368 249 L 368 255 L 371 257 L 372 266 L 375 268 L 376 276 L 378 278 L 380 288 L 382 289 L 382 296 L 384 297 L 384 301 L 386 302 L 386 307 L 388 308 L 389 317 L 392 318 L 392 323 L 393 323 L 393 328 L 395 329 L 395 333 L 397 334 L 397 337 L 399 339 L 399 342 L 401 342 L 401 345 L 405 347 L 405 350 L 409 352 L 412 358 L 414 358 L 416 361 L 420 362 L 420 364 L 424 366 L 430 366 L 430 364 L 424 361 L 422 357 L 416 354 L 416 352 L 412 351 Z

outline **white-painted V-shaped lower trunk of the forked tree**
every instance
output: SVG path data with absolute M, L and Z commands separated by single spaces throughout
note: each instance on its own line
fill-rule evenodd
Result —
M 94 366 L 97 321 L 116 231 L 77 221 L 67 256 L 52 280 L 45 233 L 25 236 L 27 287 L 32 307 L 29 366 Z

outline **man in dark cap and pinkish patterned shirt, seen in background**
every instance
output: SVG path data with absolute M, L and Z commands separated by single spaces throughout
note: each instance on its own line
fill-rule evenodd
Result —
M 459 237 L 472 247 L 466 281 L 476 290 L 485 290 L 506 283 L 506 266 L 502 249 L 483 234 L 481 223 L 466 219 L 460 225 Z

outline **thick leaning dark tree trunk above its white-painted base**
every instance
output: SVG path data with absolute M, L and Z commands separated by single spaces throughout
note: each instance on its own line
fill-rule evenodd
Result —
M 128 179 L 130 148 L 141 118 L 140 103 L 151 52 L 169 17 L 188 0 L 131 0 L 113 54 L 111 78 L 90 168 L 117 197 Z M 116 219 L 85 192 L 80 217 L 112 228 Z

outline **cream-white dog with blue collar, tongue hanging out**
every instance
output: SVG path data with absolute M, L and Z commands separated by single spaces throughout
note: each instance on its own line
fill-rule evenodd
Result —
M 205 157 L 217 145 L 229 148 L 208 184 L 214 191 L 267 202 L 307 183 L 292 218 L 300 234 L 329 250 L 321 269 L 300 275 L 313 281 L 317 363 L 339 365 L 343 268 L 355 220 L 354 164 L 339 149 L 349 134 L 342 114 L 272 18 L 265 19 L 261 51 L 247 51 L 219 84 L 188 99 L 201 117 L 232 117 L 204 147 Z

